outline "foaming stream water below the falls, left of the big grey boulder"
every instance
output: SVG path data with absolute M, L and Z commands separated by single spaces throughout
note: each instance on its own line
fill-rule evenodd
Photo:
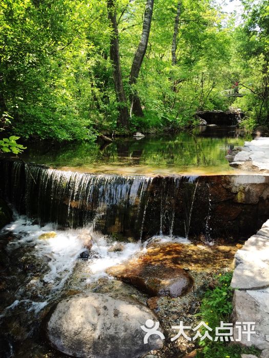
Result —
M 111 248 L 119 242 L 111 236 L 93 234 L 90 257 L 84 260 L 80 258 L 85 251 L 79 238 L 81 229 L 57 230 L 56 237 L 42 239 L 40 235 L 53 229 L 51 224 L 40 227 L 21 215 L 14 219 L 0 232 L 1 357 L 63 356 L 42 337 L 42 321 L 60 299 L 81 292 L 100 292 L 104 287 L 108 292 L 123 289 L 125 294 L 139 295 L 127 285 L 121 287 L 118 283 L 119 288 L 115 288 L 117 282 L 106 269 L 146 252 L 147 242 L 120 242 L 122 250 L 114 252 Z M 190 242 L 165 236 L 152 240 Z M 140 294 L 139 299 L 145 297 Z

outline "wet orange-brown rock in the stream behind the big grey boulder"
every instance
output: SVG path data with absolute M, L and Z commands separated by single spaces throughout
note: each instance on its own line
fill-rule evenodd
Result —
M 147 254 L 110 267 L 107 273 L 133 284 L 152 297 L 178 297 L 188 293 L 193 286 L 192 277 L 178 261 L 181 249 L 178 244 L 153 244 Z

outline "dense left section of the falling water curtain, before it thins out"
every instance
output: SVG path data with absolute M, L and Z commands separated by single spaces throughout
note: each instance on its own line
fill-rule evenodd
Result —
M 20 162 L 6 163 L 6 178 L 8 171 L 13 178 L 11 186 L 8 180 L 4 185 L 8 199 L 40 225 L 50 222 L 54 228 L 86 227 L 109 233 L 117 226 L 128 231 L 123 227 L 128 222 L 140 234 L 151 177 L 83 174 Z

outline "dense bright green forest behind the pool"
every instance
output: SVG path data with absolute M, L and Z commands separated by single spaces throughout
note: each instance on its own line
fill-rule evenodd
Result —
M 269 122 L 269 6 L 213 0 L 3 0 L 1 129 L 25 139 L 176 130 L 233 106 Z M 243 97 L 226 97 L 239 83 Z M 15 137 L 12 137 L 15 138 Z M 16 137 L 17 138 L 17 137 Z

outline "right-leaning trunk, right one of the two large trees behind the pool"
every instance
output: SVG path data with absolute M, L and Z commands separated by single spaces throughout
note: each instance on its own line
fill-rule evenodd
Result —
M 152 20 L 152 12 L 153 12 L 154 0 L 147 0 L 146 9 L 144 12 L 144 21 L 143 21 L 143 30 L 141 39 L 134 55 L 134 60 L 130 73 L 130 85 L 135 84 L 137 82 L 137 78 L 140 72 L 141 64 L 143 62 L 144 55 L 146 54 L 148 41 L 150 36 L 150 28 L 151 28 L 151 20 Z M 143 111 L 140 103 L 140 99 L 137 95 L 137 92 L 134 91 L 131 95 L 131 109 L 136 116 L 142 117 Z M 132 112 L 130 111 L 130 114 Z

